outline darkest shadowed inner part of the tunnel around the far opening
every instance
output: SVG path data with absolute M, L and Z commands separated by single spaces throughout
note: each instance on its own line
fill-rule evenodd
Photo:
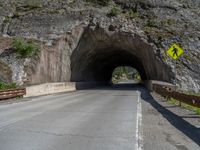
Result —
M 148 79 L 140 59 L 126 50 L 107 48 L 95 50 L 89 55 L 86 54 L 72 58 L 72 81 L 110 82 L 112 73 L 118 66 L 133 67 L 138 70 L 142 80 Z

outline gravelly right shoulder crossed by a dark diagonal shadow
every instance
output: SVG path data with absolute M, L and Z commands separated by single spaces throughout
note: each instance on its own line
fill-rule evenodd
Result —
M 144 150 L 199 150 L 200 116 L 141 90 Z

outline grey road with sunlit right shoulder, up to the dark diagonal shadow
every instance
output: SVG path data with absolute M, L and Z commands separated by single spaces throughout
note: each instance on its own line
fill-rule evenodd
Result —
M 167 122 L 159 112 L 149 119 L 154 108 L 144 92 L 122 86 L 1 103 L 0 150 L 187 150 L 188 143 L 199 149 L 172 125 L 158 126 Z M 173 134 L 186 145 L 173 143 Z

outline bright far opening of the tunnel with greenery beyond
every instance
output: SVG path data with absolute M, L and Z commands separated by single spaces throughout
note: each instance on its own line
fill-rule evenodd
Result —
M 139 72 L 131 66 L 119 66 L 112 73 L 112 84 L 138 84 L 141 82 Z

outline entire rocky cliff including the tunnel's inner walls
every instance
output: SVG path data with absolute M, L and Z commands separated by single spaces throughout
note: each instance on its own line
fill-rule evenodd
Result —
M 0 60 L 11 72 L 1 67 L 0 80 L 109 81 L 115 67 L 128 65 L 143 80 L 176 78 L 180 88 L 199 92 L 199 7 L 199 0 L 0 0 Z M 10 51 L 16 36 L 37 40 L 39 56 L 19 60 Z M 165 52 L 172 43 L 185 49 L 176 76 Z

